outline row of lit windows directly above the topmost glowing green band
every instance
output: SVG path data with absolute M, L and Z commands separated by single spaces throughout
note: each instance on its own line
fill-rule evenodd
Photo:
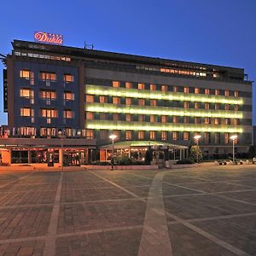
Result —
M 112 82 L 113 87 L 121 87 L 121 82 L 119 81 L 113 81 Z M 127 89 L 140 89 L 145 90 L 145 84 L 141 83 L 131 83 L 131 82 L 125 82 L 125 88 Z M 172 90 L 171 90 L 172 89 Z M 202 89 L 202 88 L 195 88 L 195 87 L 189 87 L 189 86 L 176 86 L 173 85 L 156 85 L 156 84 L 149 84 L 148 90 L 161 90 L 161 91 L 173 91 L 173 92 L 184 92 L 184 93 L 195 93 L 195 94 L 206 94 L 206 95 L 224 95 L 224 96 L 239 96 L 239 92 L 237 90 L 210 90 L 210 89 Z

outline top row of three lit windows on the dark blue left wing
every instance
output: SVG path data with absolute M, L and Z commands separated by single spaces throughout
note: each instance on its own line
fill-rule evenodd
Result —
M 21 79 L 34 79 L 34 73 L 30 71 L 29 69 L 22 69 L 20 70 L 20 78 Z M 51 72 L 39 72 L 39 80 L 41 81 L 52 81 L 55 82 L 57 79 L 56 73 Z M 63 81 L 65 83 L 73 82 L 74 77 L 72 74 L 65 73 L 63 75 Z

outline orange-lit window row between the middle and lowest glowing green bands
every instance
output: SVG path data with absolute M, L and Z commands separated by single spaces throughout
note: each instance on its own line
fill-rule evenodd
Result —
M 96 118 L 97 117 L 97 118 Z M 205 124 L 205 125 L 239 125 L 239 119 L 220 119 L 220 118 L 200 118 L 200 117 L 178 117 L 178 116 L 167 116 L 167 115 L 146 115 L 146 114 L 131 114 L 125 113 L 124 115 L 120 113 L 94 113 L 94 112 L 85 112 L 85 119 L 94 120 L 113 120 L 113 121 L 138 121 L 138 122 L 150 122 L 150 123 L 195 123 L 195 124 Z

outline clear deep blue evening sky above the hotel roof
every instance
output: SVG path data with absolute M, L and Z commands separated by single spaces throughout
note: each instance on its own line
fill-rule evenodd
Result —
M 34 31 L 44 31 L 63 34 L 65 45 L 86 41 L 95 49 L 243 67 L 256 79 L 255 0 L 9 0 L 1 10 L 2 54 L 14 38 L 33 41 Z M 0 65 L 0 124 L 7 124 Z

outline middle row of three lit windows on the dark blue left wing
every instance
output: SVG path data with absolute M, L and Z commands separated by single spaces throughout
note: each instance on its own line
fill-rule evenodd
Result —
M 20 89 L 20 96 L 31 99 L 34 97 L 34 91 L 31 89 L 25 89 L 25 88 Z M 40 97 L 42 99 L 54 100 L 56 99 L 56 92 L 55 90 L 40 90 Z M 66 101 L 74 100 L 74 94 L 71 91 L 64 91 L 63 98 Z

